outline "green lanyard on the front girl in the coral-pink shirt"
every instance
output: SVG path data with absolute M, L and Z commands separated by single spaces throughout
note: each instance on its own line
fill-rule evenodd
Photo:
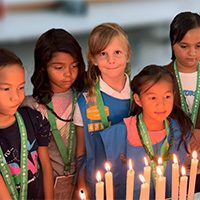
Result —
M 146 125 L 143 121 L 142 113 L 139 114 L 138 119 L 139 119 L 138 128 L 139 128 L 139 134 L 140 134 L 142 143 L 147 147 L 147 150 L 150 152 L 151 156 L 155 158 L 153 146 L 151 144 L 151 140 L 150 140 Z M 161 149 L 160 149 L 160 154 L 161 154 L 162 158 L 164 157 L 164 155 L 167 153 L 167 151 L 169 149 L 168 136 L 169 136 L 170 128 L 169 128 L 169 124 L 168 124 L 167 120 L 165 120 L 165 130 L 166 130 L 167 136 L 166 136 L 165 141 L 163 142 Z M 146 149 L 145 149 L 145 151 L 146 151 Z M 147 153 L 147 155 L 149 156 L 148 153 Z M 150 156 L 149 156 L 149 159 L 150 159 L 150 165 L 152 168 L 153 182 L 155 185 L 155 183 L 156 183 L 156 160 L 150 158 Z M 164 162 L 163 162 L 164 170 L 166 168 L 166 164 L 167 164 L 167 161 L 164 160 Z

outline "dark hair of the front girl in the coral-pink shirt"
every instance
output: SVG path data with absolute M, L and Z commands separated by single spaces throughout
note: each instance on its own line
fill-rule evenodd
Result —
M 166 68 L 158 65 L 148 65 L 144 67 L 131 81 L 131 90 L 133 94 L 140 95 L 142 91 L 147 91 L 153 85 L 158 83 L 161 80 L 166 80 L 171 82 L 174 88 L 175 85 L 175 78 L 174 75 L 168 71 Z M 148 87 L 147 87 L 148 86 Z M 174 97 L 176 98 L 175 91 Z M 176 102 L 176 101 L 174 101 Z M 131 115 L 139 115 L 142 112 L 142 108 L 136 104 L 133 100 Z M 188 132 L 192 130 L 192 121 L 190 117 L 182 110 L 179 105 L 174 103 L 172 112 L 169 115 L 169 119 L 175 119 L 181 129 L 181 142 L 183 142 L 186 148 L 186 138 L 188 136 Z M 180 146 L 179 144 L 179 146 Z M 187 148 L 186 148 L 187 149 Z

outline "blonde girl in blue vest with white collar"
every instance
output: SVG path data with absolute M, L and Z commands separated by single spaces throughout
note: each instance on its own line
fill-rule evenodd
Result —
M 128 37 L 118 24 L 103 23 L 90 33 L 88 91 L 79 97 L 74 115 L 78 166 L 86 164 L 79 173 L 77 188 L 83 188 L 88 198 L 95 198 L 95 173 L 105 170 L 107 160 L 99 133 L 129 115 L 131 94 L 125 70 L 130 56 Z

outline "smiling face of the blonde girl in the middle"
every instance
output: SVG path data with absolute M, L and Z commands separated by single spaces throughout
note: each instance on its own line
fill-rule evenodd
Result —
M 120 36 L 116 36 L 103 51 L 95 56 L 95 64 L 98 65 L 104 81 L 124 76 L 128 62 L 127 53 L 126 43 Z

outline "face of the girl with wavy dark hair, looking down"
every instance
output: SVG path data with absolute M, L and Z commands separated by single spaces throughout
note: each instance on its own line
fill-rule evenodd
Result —
M 55 53 L 47 66 L 51 89 L 54 93 L 69 90 L 78 75 L 78 62 L 68 53 Z

